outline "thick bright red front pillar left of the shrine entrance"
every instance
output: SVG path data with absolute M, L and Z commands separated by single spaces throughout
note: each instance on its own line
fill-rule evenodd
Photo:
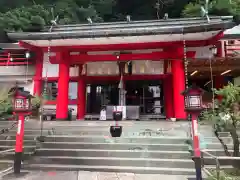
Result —
M 69 64 L 65 53 L 58 53 L 57 56 L 60 56 L 61 62 L 59 64 L 56 119 L 66 120 L 68 118 Z

